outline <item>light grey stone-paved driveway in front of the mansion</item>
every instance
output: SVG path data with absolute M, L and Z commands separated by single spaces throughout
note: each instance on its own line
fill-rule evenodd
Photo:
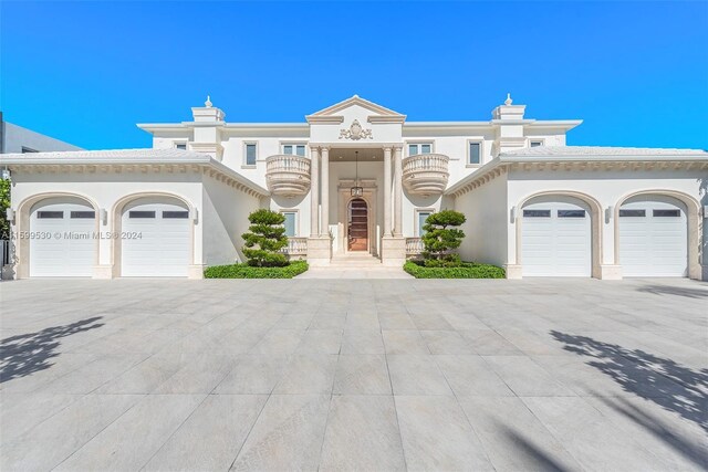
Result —
M 708 284 L 0 284 L 11 470 L 699 470 Z

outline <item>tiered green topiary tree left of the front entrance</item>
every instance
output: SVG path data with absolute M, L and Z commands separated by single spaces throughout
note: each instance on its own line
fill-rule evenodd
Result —
M 282 268 L 288 265 L 288 258 L 279 251 L 288 245 L 285 235 L 285 217 L 271 210 L 257 210 L 248 216 L 251 225 L 249 232 L 241 234 L 246 245 L 243 255 L 248 265 L 256 268 Z

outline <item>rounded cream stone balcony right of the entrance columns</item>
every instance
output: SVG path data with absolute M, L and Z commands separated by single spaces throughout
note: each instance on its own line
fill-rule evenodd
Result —
M 418 154 L 403 160 L 403 185 L 408 193 L 439 195 L 447 187 L 449 157 L 442 154 Z

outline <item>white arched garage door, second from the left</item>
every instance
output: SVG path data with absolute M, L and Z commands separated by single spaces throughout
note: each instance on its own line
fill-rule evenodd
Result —
M 189 210 L 171 198 L 127 203 L 121 220 L 123 276 L 187 276 L 191 253 Z

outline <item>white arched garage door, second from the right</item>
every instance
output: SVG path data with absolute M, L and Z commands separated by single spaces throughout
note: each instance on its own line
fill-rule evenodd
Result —
M 591 276 L 590 207 L 570 197 L 538 197 L 522 208 L 523 276 Z

